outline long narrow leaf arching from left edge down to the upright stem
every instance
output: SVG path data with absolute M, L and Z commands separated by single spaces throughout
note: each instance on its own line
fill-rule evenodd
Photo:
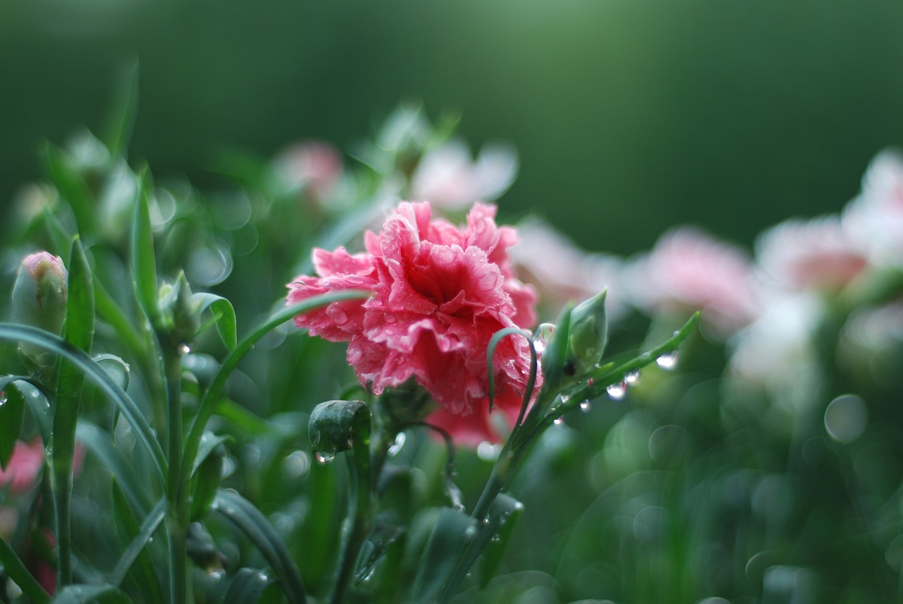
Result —
M 154 469 L 157 474 L 161 478 L 165 476 L 166 458 L 163 455 L 160 443 L 154 436 L 154 431 L 151 430 L 151 426 L 147 422 L 147 418 L 138 409 L 135 401 L 126 394 L 126 391 L 116 384 L 116 381 L 103 368 L 98 367 L 94 359 L 90 358 L 85 351 L 75 348 L 66 340 L 58 338 L 51 333 L 28 325 L 0 323 L 0 339 L 11 342 L 27 341 L 34 346 L 55 352 L 78 366 L 125 414 L 126 419 L 135 431 L 137 439 L 141 441 L 147 451 L 152 453 Z

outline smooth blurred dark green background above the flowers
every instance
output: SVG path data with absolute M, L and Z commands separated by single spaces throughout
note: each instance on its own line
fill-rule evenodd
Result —
M 348 152 L 414 99 L 517 146 L 508 218 L 620 254 L 686 222 L 749 245 L 903 143 L 901 25 L 889 0 L 6 0 L 0 200 L 42 138 L 98 130 L 137 57 L 130 156 L 159 176 L 214 184 L 223 147 Z

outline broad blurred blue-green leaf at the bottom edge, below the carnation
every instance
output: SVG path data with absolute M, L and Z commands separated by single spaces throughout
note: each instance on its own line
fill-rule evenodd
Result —
M 477 521 L 452 507 L 443 507 L 426 544 L 414 581 L 414 604 L 432 604 L 454 571 L 458 553 L 477 535 Z

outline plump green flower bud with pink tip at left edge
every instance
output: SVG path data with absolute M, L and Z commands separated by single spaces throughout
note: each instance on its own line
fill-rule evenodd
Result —
M 59 256 L 48 252 L 26 256 L 13 286 L 13 321 L 60 335 L 66 319 L 67 277 Z M 45 353 L 25 342 L 20 349 L 31 360 Z

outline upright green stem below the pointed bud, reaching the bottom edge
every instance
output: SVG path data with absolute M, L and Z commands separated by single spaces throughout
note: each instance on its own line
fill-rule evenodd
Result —
M 169 497 L 170 597 L 172 604 L 188 598 L 186 539 L 188 534 L 187 491 L 182 491 L 182 357 L 172 346 L 163 346 L 166 372 L 166 406 L 169 432 L 167 493 Z

